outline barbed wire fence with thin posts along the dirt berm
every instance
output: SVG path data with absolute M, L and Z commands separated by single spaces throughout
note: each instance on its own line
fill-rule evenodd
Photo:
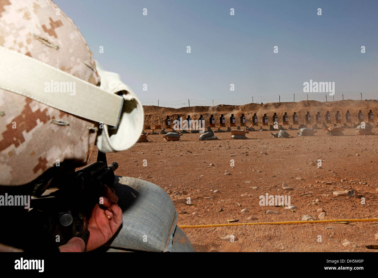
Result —
M 172 99 L 169 101 L 155 99 L 155 98 L 146 98 L 140 99 L 141 103 L 146 106 L 160 106 L 160 107 L 172 107 L 172 108 L 181 108 L 181 107 L 191 107 L 191 106 L 217 106 L 221 104 L 227 105 L 244 105 L 248 103 L 277 103 L 277 102 L 298 102 L 304 100 L 316 100 L 316 101 L 340 101 L 340 100 L 365 100 L 365 99 L 374 99 L 378 100 L 378 92 L 375 93 L 337 93 L 333 96 L 330 96 L 328 93 L 301 93 L 301 94 L 286 94 L 286 95 L 269 95 L 269 96 L 251 96 L 250 98 L 241 98 L 241 99 Z

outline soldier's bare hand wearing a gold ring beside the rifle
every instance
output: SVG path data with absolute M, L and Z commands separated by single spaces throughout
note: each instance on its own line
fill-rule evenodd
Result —
M 105 209 L 99 204 L 93 208 L 91 217 L 88 221 L 90 232 L 87 251 L 94 250 L 104 245 L 116 233 L 122 224 L 122 210 L 118 207 L 118 197 L 114 189 L 104 186 L 104 196 L 102 197 Z

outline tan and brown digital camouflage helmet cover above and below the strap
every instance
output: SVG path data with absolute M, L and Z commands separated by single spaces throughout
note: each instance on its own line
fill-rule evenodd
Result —
M 99 85 L 87 43 L 50 0 L 1 0 L 0 45 Z M 0 184 L 31 182 L 57 160 L 87 163 L 96 124 L 0 89 Z

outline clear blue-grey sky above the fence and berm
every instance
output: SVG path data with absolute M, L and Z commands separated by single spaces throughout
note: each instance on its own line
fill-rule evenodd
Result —
M 141 99 L 303 93 L 310 79 L 336 94 L 378 91 L 377 0 L 54 2 Z

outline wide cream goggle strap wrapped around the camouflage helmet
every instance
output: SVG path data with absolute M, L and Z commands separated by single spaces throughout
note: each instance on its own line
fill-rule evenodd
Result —
M 0 88 L 82 118 L 117 126 L 124 98 L 0 46 Z

